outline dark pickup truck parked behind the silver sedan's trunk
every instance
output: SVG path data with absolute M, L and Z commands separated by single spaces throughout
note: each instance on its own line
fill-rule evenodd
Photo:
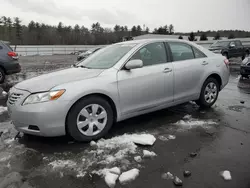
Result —
M 209 50 L 229 58 L 249 56 L 249 46 L 243 46 L 240 40 L 219 40 L 213 43 Z

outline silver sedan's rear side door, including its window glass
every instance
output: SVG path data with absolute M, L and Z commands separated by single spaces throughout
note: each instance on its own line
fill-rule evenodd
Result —
M 194 100 L 200 93 L 200 80 L 209 64 L 206 55 L 182 42 L 167 43 L 174 68 L 174 100 Z

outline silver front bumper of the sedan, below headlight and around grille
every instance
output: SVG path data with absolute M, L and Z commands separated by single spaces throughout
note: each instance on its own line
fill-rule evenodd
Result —
M 21 97 L 10 102 L 13 93 L 21 94 Z M 55 100 L 44 103 L 22 105 L 30 93 L 27 91 L 12 89 L 7 106 L 15 128 L 23 133 L 37 136 L 62 136 L 66 134 L 65 120 L 67 116 L 67 101 Z M 12 103 L 12 104 L 11 104 Z M 32 127 L 37 127 L 34 130 Z

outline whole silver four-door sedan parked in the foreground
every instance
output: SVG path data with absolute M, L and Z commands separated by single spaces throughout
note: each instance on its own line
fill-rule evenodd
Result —
M 90 141 L 115 122 L 187 101 L 211 107 L 228 80 L 228 60 L 194 43 L 128 41 L 15 85 L 7 104 L 18 131 Z

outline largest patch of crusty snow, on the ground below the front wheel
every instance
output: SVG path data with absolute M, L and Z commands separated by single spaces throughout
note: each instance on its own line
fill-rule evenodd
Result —
M 91 142 L 91 147 L 84 149 L 77 155 L 47 156 L 44 162 L 49 164 L 50 167 L 52 166 L 53 171 L 70 168 L 71 171 L 76 172 L 76 176 L 79 178 L 86 173 L 97 174 L 102 177 L 105 177 L 107 172 L 119 175 L 121 173 L 120 169 L 127 170 L 134 165 L 137 166 L 136 160 L 128 160 L 128 158 L 134 157 L 141 152 L 137 144 L 152 145 L 155 140 L 155 137 L 150 134 L 124 134 Z M 116 165 L 119 166 L 112 169 Z

